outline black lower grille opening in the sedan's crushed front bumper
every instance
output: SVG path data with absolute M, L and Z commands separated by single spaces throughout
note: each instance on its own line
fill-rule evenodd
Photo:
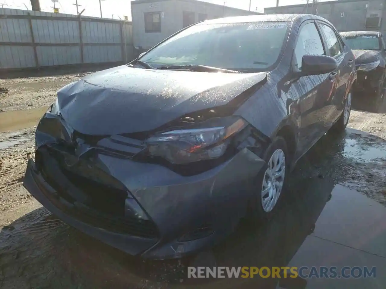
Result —
M 36 163 L 39 164 L 44 179 L 58 193 L 58 196 L 46 197 L 67 215 L 109 232 L 145 238 L 159 236 L 156 224 L 151 220 L 125 216 L 127 191 L 109 187 L 61 168 L 53 154 L 43 148 L 37 151 Z M 87 201 L 79 203 L 73 191 L 71 194 L 66 192 L 71 190 L 71 186 L 87 196 Z

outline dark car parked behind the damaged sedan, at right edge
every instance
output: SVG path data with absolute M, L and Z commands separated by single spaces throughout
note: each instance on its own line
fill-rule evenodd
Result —
M 381 32 L 349 31 L 340 35 L 355 56 L 358 76 L 354 92 L 373 97 L 377 106 L 383 101 L 386 85 L 386 43 Z

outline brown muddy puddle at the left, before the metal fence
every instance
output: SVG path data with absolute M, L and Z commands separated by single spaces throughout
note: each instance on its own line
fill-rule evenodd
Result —
M 0 132 L 36 126 L 47 109 L 48 106 L 20 111 L 3 111 L 0 113 Z

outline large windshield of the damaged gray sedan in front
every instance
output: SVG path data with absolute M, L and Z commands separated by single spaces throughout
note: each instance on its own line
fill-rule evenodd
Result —
M 166 40 L 141 60 L 154 67 L 196 64 L 267 71 L 278 60 L 288 26 L 288 22 L 198 24 Z

